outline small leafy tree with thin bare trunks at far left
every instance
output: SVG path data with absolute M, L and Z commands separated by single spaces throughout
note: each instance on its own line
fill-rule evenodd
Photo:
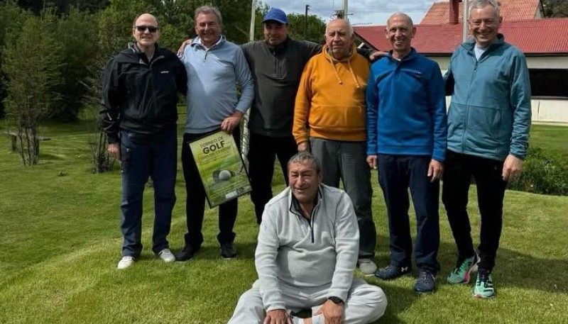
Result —
M 9 78 L 7 117 L 16 128 L 24 165 L 38 163 L 39 123 L 57 100 L 54 87 L 62 82 L 62 46 L 55 37 L 54 21 L 53 11 L 29 17 L 18 37 L 6 45 L 3 56 L 2 69 Z

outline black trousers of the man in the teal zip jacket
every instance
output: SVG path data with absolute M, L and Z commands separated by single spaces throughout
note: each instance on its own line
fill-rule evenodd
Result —
M 474 255 L 471 225 L 467 214 L 469 184 L 474 177 L 477 202 L 481 214 L 479 267 L 491 271 L 503 228 L 503 197 L 507 181 L 503 181 L 503 162 L 447 151 L 442 201 L 446 207 L 457 251 L 463 257 Z

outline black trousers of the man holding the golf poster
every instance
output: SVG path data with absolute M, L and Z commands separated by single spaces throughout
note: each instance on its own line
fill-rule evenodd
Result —
M 214 132 L 217 132 L 215 130 Z M 214 133 L 209 132 L 209 133 Z M 203 242 L 203 216 L 205 213 L 205 189 L 200 178 L 197 164 L 193 159 L 188 141 L 201 138 L 204 134 L 183 134 L 182 143 L 182 165 L 183 177 L 185 178 L 185 191 L 187 200 L 185 203 L 185 213 L 187 220 L 187 233 L 185 234 L 185 245 L 192 247 L 200 247 Z M 240 128 L 236 127 L 233 131 L 233 138 L 239 150 L 241 148 Z M 219 244 L 230 243 L 235 239 L 233 228 L 236 220 L 236 211 L 238 208 L 238 199 L 233 199 L 219 205 L 219 234 L 217 240 Z

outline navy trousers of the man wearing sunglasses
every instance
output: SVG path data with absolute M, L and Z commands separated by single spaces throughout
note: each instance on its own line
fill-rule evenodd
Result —
M 154 187 L 154 231 L 152 250 L 168 248 L 172 210 L 175 204 L 175 176 L 178 140 L 175 129 L 160 143 L 138 144 L 121 132 L 121 222 L 124 237 L 122 255 L 138 257 L 142 250 L 142 197 L 148 177 Z

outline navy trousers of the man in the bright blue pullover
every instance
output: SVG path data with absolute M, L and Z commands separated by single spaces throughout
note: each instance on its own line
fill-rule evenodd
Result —
M 415 262 L 432 274 L 439 271 L 439 181 L 427 177 L 430 156 L 378 155 L 378 181 L 388 212 L 391 264 L 410 267 L 413 252 L 410 238 L 408 188 L 416 213 Z

